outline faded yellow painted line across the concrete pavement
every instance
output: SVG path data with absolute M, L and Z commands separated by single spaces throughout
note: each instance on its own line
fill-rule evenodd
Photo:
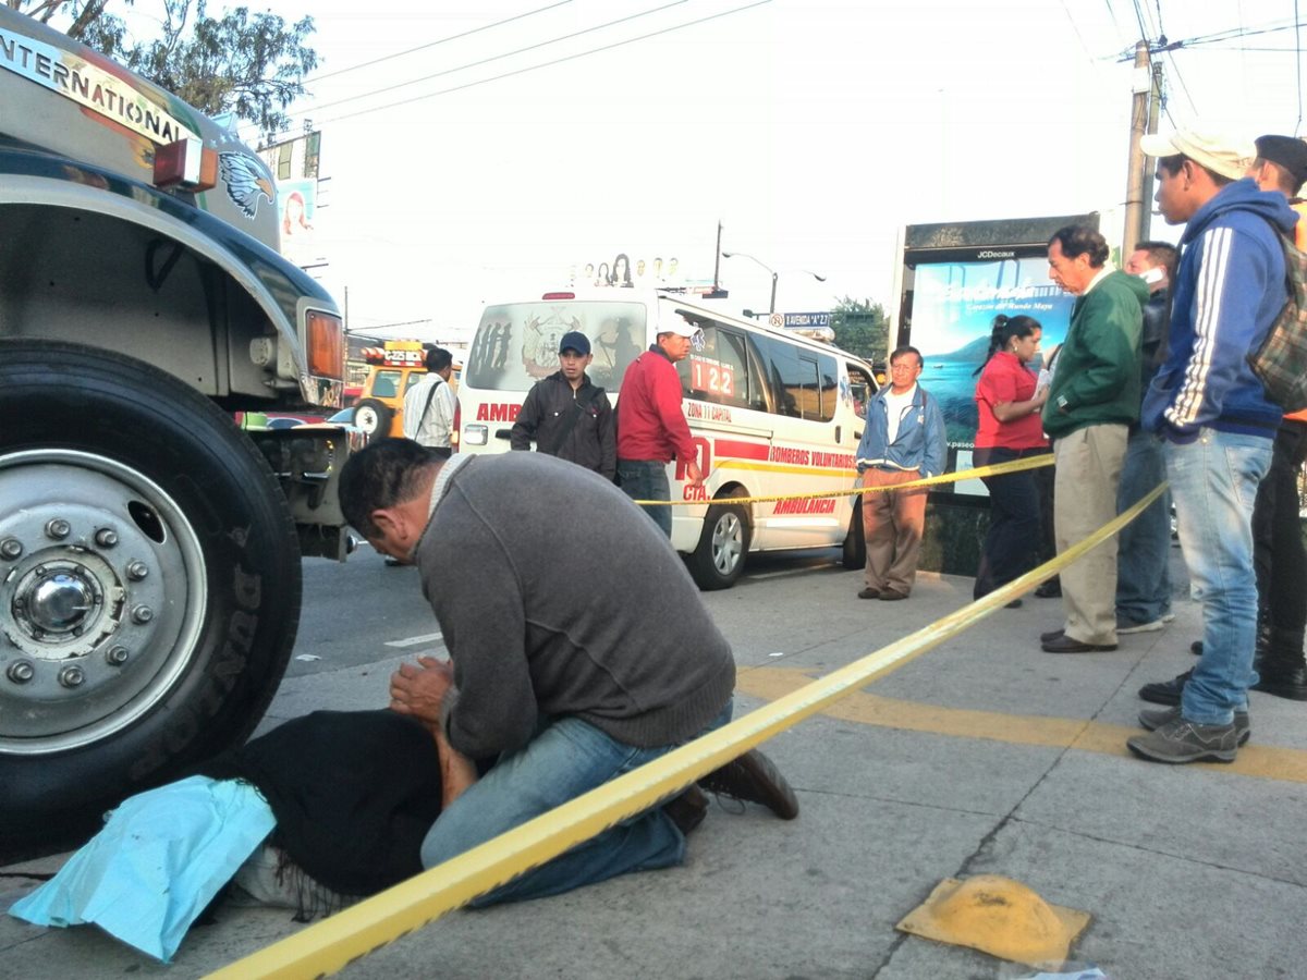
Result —
M 736 690 L 754 698 L 775 700 L 812 683 L 816 674 L 797 668 L 758 666 L 740 672 Z M 997 711 L 944 708 L 937 704 L 884 698 L 856 691 L 825 707 L 819 713 L 863 725 L 898 728 L 908 732 L 984 738 L 1009 745 L 1040 745 L 1076 749 L 1100 755 L 1134 758 L 1125 740 L 1140 734 L 1137 725 L 1108 725 L 1078 719 L 1004 715 Z M 1256 737 L 1256 729 L 1253 729 Z M 1307 751 L 1248 743 L 1233 763 L 1204 763 L 1205 768 L 1240 776 L 1273 779 L 1281 783 L 1307 783 Z

